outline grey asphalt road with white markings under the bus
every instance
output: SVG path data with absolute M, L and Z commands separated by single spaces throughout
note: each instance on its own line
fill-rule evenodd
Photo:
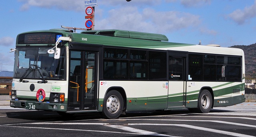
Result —
M 252 137 L 256 103 L 214 108 L 208 114 L 188 110 L 127 112 L 118 119 L 98 113 L 63 117 L 56 112 L 0 106 L 0 136 L 47 137 Z

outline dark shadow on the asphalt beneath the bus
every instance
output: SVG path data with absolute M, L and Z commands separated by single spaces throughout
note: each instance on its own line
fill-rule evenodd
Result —
M 218 110 L 212 109 L 208 114 L 218 112 L 234 112 L 230 110 Z M 152 110 L 152 111 L 134 111 L 126 112 L 126 114 L 120 115 L 120 118 L 125 117 L 150 117 L 150 116 L 162 116 L 162 115 L 188 115 L 198 114 L 191 113 L 189 110 Z M 6 112 L 8 118 L 12 119 L 26 119 L 35 121 L 73 121 L 73 120 L 93 120 L 104 119 L 100 113 L 77 113 L 70 116 L 62 116 L 57 112 L 46 112 L 42 110 L 36 111 L 22 111 L 22 112 Z

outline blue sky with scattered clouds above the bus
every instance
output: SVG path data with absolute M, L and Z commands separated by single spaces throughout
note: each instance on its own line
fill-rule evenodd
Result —
M 97 0 L 94 29 L 164 34 L 170 42 L 221 47 L 256 43 L 256 0 Z M 85 28 L 84 0 L 2 0 L 0 70 L 13 71 L 19 33 Z M 78 31 L 79 33 L 80 31 Z

